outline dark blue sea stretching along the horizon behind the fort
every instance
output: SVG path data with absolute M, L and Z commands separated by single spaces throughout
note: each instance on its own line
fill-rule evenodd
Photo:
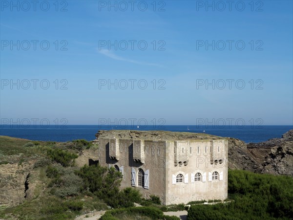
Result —
M 153 126 L 145 126 L 144 128 L 136 128 L 128 126 L 126 128 L 115 128 L 108 125 L 66 125 L 56 128 L 54 125 L 46 128 L 36 126 L 18 126 L 18 125 L 0 125 L 0 135 L 20 137 L 29 140 L 41 141 L 71 141 L 75 139 L 94 140 L 95 134 L 99 130 L 154 130 Z M 189 130 L 188 130 L 189 129 Z M 293 126 L 227 126 L 224 128 L 213 126 L 187 126 L 187 125 L 164 125 L 156 130 L 164 130 L 171 132 L 204 132 L 222 137 L 234 137 L 249 142 L 262 142 L 271 138 L 280 138 L 282 134 L 293 129 Z

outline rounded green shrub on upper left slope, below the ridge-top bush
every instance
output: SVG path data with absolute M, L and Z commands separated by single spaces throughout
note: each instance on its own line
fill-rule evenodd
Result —
M 70 153 L 61 149 L 47 149 L 47 156 L 53 161 L 60 163 L 62 166 L 73 166 L 74 159 L 78 157 L 77 154 Z

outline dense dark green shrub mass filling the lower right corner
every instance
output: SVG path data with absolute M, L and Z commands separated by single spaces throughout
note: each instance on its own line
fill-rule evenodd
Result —
M 188 220 L 293 219 L 293 178 L 229 170 L 227 204 L 191 205 Z

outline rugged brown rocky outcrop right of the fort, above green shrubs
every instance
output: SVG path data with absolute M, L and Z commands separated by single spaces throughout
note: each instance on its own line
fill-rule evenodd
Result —
M 231 169 L 293 176 L 293 130 L 284 133 L 282 138 L 260 143 L 235 143 L 234 140 L 229 141 Z

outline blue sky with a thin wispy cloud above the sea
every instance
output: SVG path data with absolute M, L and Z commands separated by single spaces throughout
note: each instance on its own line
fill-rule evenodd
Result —
M 13 2 L 0 9 L 1 120 L 293 124 L 292 1 Z

